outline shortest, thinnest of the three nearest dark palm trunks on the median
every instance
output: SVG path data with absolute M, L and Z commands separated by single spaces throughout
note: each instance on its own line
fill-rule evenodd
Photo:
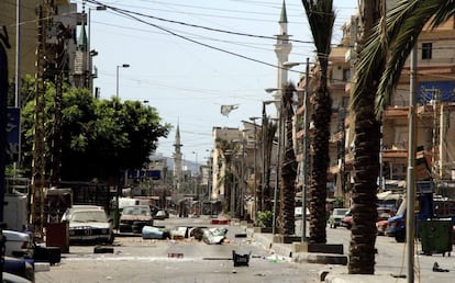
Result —
M 280 234 L 295 235 L 296 233 L 296 177 L 297 161 L 292 143 L 292 95 L 296 87 L 288 83 L 281 99 L 281 113 L 284 114 L 284 156 L 281 161 L 281 182 L 280 182 Z

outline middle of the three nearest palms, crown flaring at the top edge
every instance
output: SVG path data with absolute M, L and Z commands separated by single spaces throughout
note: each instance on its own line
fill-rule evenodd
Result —
M 314 135 L 311 184 L 309 190 L 310 242 L 326 242 L 326 181 L 329 169 L 329 138 L 332 115 L 332 98 L 328 88 L 328 66 L 335 13 L 332 0 L 302 0 L 307 13 L 320 67 L 319 86 L 314 93 Z M 307 82 L 308 83 L 308 82 Z M 307 110 L 306 110 L 307 111 Z

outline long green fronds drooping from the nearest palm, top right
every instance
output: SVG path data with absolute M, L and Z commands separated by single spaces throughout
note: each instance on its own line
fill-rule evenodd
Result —
M 387 34 L 377 25 L 359 55 L 352 90 L 352 107 L 359 102 L 367 82 L 377 76 L 378 68 L 387 59 L 376 95 L 376 115 L 379 118 L 388 105 L 406 60 L 415 45 L 422 29 L 431 22 L 435 27 L 454 14 L 455 1 L 400 0 L 387 13 Z M 433 16 L 433 18 L 432 18 Z M 384 39 L 382 36 L 387 36 Z M 385 45 L 387 43 L 387 45 Z M 389 56 L 389 58 L 388 58 Z M 371 93 L 373 94 L 373 93 Z

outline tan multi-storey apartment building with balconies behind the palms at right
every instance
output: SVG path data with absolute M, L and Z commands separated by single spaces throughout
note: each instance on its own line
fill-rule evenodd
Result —
M 353 47 L 358 30 L 357 15 L 353 15 L 342 29 L 343 38 L 330 54 L 329 86 L 333 104 L 328 196 L 343 196 L 348 202 L 354 157 L 353 113 L 349 113 L 348 100 L 351 75 L 355 72 L 356 55 Z M 440 181 L 436 182 L 436 192 L 455 197 L 455 19 L 450 19 L 436 30 L 425 29 L 418 45 L 418 122 L 413 138 L 419 154 L 428 160 L 431 176 Z M 318 66 L 312 66 L 310 72 L 312 76 L 308 83 L 311 95 L 311 89 L 317 83 Z M 409 73 L 408 61 L 384 113 L 380 152 L 382 178 L 378 180 L 379 190 L 390 189 L 390 185 L 403 189 L 399 184 L 404 183 L 408 166 Z M 304 88 L 306 83 L 302 78 L 299 88 Z M 298 121 L 302 121 L 304 111 L 303 102 L 300 101 L 296 114 L 296 142 L 300 145 L 306 132 L 303 124 Z M 308 111 L 311 113 L 311 106 Z M 311 122 L 308 134 L 311 135 Z M 301 147 L 296 148 L 298 160 L 301 161 Z

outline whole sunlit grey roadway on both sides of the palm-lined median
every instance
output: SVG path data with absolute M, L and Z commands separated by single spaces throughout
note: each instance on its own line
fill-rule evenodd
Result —
M 296 231 L 299 231 L 297 224 Z M 51 267 L 51 271 L 36 272 L 36 282 L 319 282 L 318 272 L 322 270 L 331 274 L 347 273 L 346 265 L 295 263 L 290 258 L 273 254 L 268 247 L 254 239 L 235 237 L 244 235 L 244 227 L 210 225 L 209 217 L 171 216 L 155 225 L 226 227 L 230 241 L 207 245 L 195 239 L 151 240 L 140 235 L 120 235 L 113 253 L 93 253 L 93 246 L 70 246 L 69 253 L 62 254 L 59 264 Z M 348 254 L 351 231 L 329 226 L 326 231 L 328 244 L 343 244 L 344 254 Z M 398 279 L 407 273 L 404 244 L 385 236 L 378 236 L 376 242 L 375 274 L 384 279 L 380 282 L 406 282 Z M 419 245 L 415 248 L 420 250 Z M 251 252 L 248 267 L 233 265 L 233 250 L 237 254 Z M 448 272 L 433 272 L 434 262 Z M 448 254 L 415 257 L 418 282 L 453 282 L 453 272 L 455 265 Z

